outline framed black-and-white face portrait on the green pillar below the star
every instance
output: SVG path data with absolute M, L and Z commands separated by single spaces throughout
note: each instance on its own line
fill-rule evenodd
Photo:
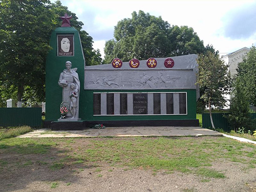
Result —
M 74 56 L 73 35 L 57 35 L 57 56 Z

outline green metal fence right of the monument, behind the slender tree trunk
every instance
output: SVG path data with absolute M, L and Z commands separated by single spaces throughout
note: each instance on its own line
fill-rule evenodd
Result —
M 229 123 L 225 116 L 227 116 L 229 113 L 212 113 L 212 121 L 214 121 L 215 128 L 223 129 L 226 132 L 229 132 L 232 130 L 232 127 L 229 126 Z M 256 113 L 251 114 L 251 118 L 256 118 Z M 210 122 L 210 115 L 209 113 L 203 113 L 202 114 L 202 124 L 204 128 L 211 127 Z

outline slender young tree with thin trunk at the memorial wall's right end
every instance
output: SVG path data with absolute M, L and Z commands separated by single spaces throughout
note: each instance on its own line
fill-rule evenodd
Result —
M 224 61 L 219 59 L 219 55 L 207 51 L 200 54 L 198 59 L 198 80 L 199 87 L 204 88 L 201 98 L 208 103 L 210 120 L 213 128 L 211 105 L 222 107 L 225 105 L 226 99 L 224 94 L 228 94 L 230 85 L 230 74 L 228 67 Z

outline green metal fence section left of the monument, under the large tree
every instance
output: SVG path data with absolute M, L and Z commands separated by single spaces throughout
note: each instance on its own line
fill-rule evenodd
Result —
M 41 126 L 41 108 L 0 108 L 0 126 Z

